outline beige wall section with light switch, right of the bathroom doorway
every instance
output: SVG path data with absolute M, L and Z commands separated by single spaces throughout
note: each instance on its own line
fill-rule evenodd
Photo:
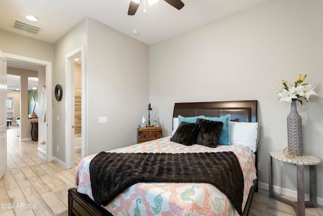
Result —
M 149 98 L 149 48 L 88 19 L 88 154 L 137 143 Z M 99 116 L 107 116 L 99 124 Z

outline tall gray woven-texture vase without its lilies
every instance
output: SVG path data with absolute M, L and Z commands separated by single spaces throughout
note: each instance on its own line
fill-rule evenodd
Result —
M 302 156 L 302 118 L 297 112 L 296 101 L 292 101 L 291 112 L 287 116 L 287 136 L 288 147 L 294 148 L 297 156 Z

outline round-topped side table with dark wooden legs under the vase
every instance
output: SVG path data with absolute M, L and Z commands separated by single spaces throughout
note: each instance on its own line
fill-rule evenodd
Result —
M 273 194 L 273 158 L 297 166 L 297 202 L 292 202 L 278 194 Z M 282 151 L 272 151 L 269 154 L 269 197 L 293 206 L 298 216 L 305 216 L 305 207 L 316 208 L 316 165 L 320 159 L 312 155 L 288 158 Z M 309 201 L 305 201 L 304 165 L 309 166 Z

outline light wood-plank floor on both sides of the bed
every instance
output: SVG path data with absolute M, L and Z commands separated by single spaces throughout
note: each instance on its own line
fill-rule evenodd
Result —
M 19 129 L 8 129 L 7 135 L 8 171 L 0 180 L 0 204 L 13 204 L 14 208 L 8 205 L 0 208 L 0 216 L 68 215 L 67 191 L 74 187 L 75 168 L 66 170 L 54 161 L 45 162 L 36 142 L 19 142 Z M 79 161 L 80 151 L 77 151 L 75 164 Z M 292 207 L 268 198 L 268 191 L 259 189 L 254 194 L 249 215 L 296 214 Z M 312 215 L 323 216 L 323 208 L 306 208 L 306 216 Z

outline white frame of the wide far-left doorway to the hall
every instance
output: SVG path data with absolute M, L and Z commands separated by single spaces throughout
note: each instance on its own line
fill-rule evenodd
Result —
M 45 66 L 46 73 L 46 161 L 52 161 L 52 70 L 51 62 L 39 59 L 29 58 L 25 56 L 18 56 L 10 53 L 4 53 L 7 59 L 13 59 L 23 62 L 29 62 Z

